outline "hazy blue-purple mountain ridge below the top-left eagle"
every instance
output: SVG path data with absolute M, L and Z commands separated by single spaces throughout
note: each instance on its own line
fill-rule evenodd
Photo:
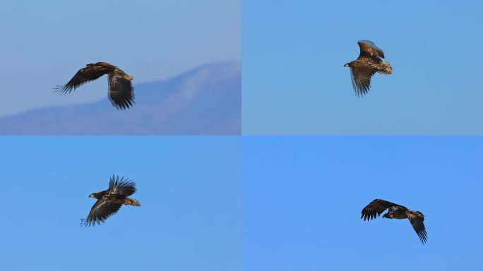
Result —
M 35 109 L 0 118 L 1 135 L 239 135 L 241 64 L 193 68 L 134 85 L 134 107 L 109 100 Z

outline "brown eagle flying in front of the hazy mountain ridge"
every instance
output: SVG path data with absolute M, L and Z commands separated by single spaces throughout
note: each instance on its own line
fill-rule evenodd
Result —
M 128 109 L 134 104 L 133 77 L 124 73 L 117 66 L 106 62 L 87 64 L 81 68 L 66 85 L 57 86 L 61 94 L 71 93 L 81 85 L 96 80 L 107 74 L 109 76 L 109 100 L 117 109 Z

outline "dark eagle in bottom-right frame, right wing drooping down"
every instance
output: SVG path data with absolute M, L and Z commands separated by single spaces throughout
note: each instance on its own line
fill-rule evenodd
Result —
M 395 203 L 390 203 L 386 200 L 372 200 L 364 209 L 362 209 L 361 219 L 364 218 L 364 221 L 369 221 L 370 219 L 374 219 L 381 215 L 386 209 L 389 209 L 389 212 L 383 215 L 386 218 L 395 218 L 395 219 L 409 219 L 412 225 L 412 228 L 415 229 L 417 236 L 424 244 L 428 240 L 428 234 L 426 232 L 426 228 L 424 227 L 424 215 L 422 212 L 408 210 L 407 207 L 403 205 L 397 205 Z

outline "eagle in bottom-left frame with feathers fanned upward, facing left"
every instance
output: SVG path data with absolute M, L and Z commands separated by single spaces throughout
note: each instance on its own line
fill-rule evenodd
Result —
M 139 206 L 138 200 L 128 198 L 129 195 L 135 192 L 136 183 L 129 181 L 129 179 L 124 179 L 124 177 L 119 179 L 119 176 L 114 177 L 112 175 L 109 179 L 109 189 L 89 195 L 89 198 L 97 198 L 97 201 L 90 209 L 88 217 L 81 219 L 81 226 L 95 226 L 96 223 L 105 222 L 107 217 L 119 211 L 123 204 Z

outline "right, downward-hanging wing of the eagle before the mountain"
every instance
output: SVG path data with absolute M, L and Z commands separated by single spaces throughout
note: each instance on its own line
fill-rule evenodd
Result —
M 131 80 L 119 73 L 109 76 L 109 100 L 117 109 L 129 109 L 134 104 Z

